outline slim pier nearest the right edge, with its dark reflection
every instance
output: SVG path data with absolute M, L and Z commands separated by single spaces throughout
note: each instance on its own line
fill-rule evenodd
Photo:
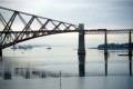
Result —
M 131 30 L 129 33 L 129 66 L 130 66 L 130 76 L 132 76 L 132 47 L 131 47 Z

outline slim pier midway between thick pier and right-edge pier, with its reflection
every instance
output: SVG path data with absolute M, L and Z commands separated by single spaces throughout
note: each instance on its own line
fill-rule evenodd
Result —
M 104 37 L 104 60 L 105 60 L 105 76 L 108 76 L 108 33 L 105 29 L 105 37 Z

